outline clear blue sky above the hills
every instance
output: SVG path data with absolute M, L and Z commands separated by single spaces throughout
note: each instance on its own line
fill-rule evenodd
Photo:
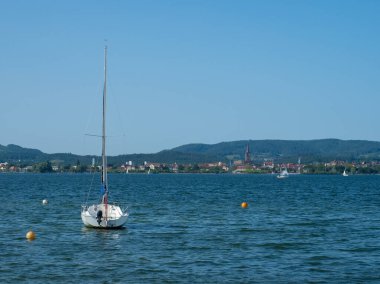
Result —
M 380 141 L 379 1 L 1 1 L 0 144 Z

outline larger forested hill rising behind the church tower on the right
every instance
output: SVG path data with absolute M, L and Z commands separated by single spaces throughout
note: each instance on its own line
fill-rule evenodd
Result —
M 251 157 L 255 160 L 304 162 L 331 160 L 380 159 L 380 142 L 365 140 L 242 140 L 218 144 L 188 144 L 172 150 L 217 156 L 222 159 L 244 159 L 249 144 Z

